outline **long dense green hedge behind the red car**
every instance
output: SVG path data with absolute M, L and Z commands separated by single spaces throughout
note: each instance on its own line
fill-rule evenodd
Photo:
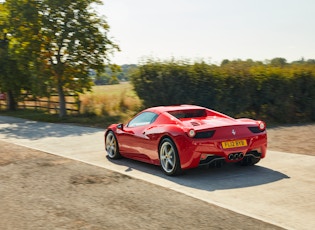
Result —
M 147 62 L 132 83 L 144 106 L 197 104 L 233 117 L 315 121 L 315 64 Z

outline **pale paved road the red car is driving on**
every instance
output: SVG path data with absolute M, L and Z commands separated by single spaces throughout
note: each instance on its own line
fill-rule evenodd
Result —
M 197 168 L 178 177 L 110 161 L 101 129 L 0 116 L 0 139 L 142 179 L 287 229 L 315 228 L 315 157 L 268 151 L 253 167 Z M 0 146 L 1 147 L 1 146 Z

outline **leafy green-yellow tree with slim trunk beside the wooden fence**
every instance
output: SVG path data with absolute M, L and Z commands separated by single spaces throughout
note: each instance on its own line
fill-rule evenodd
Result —
M 100 0 L 7 0 L 10 33 L 29 54 L 28 69 L 59 95 L 59 116 L 66 115 L 65 95 L 91 88 L 89 71 L 103 71 L 109 54 L 119 50 L 108 38 L 109 25 L 92 8 Z M 13 27 L 14 25 L 14 27 Z M 29 60 L 29 58 L 28 58 Z M 35 83 L 34 83 L 35 84 Z

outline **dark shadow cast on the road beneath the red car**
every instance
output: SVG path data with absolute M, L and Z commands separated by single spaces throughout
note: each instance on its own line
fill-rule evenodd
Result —
M 178 176 L 167 176 L 159 166 L 130 159 L 109 161 L 126 166 L 126 174 L 133 170 L 142 171 L 176 184 L 205 191 L 253 187 L 290 178 L 284 173 L 260 166 L 259 164 L 248 167 L 235 164 L 225 164 L 220 168 L 198 167 L 185 170 L 183 174 Z

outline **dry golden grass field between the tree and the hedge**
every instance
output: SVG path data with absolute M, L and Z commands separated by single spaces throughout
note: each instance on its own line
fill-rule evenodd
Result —
M 130 83 L 93 86 L 80 95 L 81 113 L 128 117 L 138 112 L 141 100 Z

